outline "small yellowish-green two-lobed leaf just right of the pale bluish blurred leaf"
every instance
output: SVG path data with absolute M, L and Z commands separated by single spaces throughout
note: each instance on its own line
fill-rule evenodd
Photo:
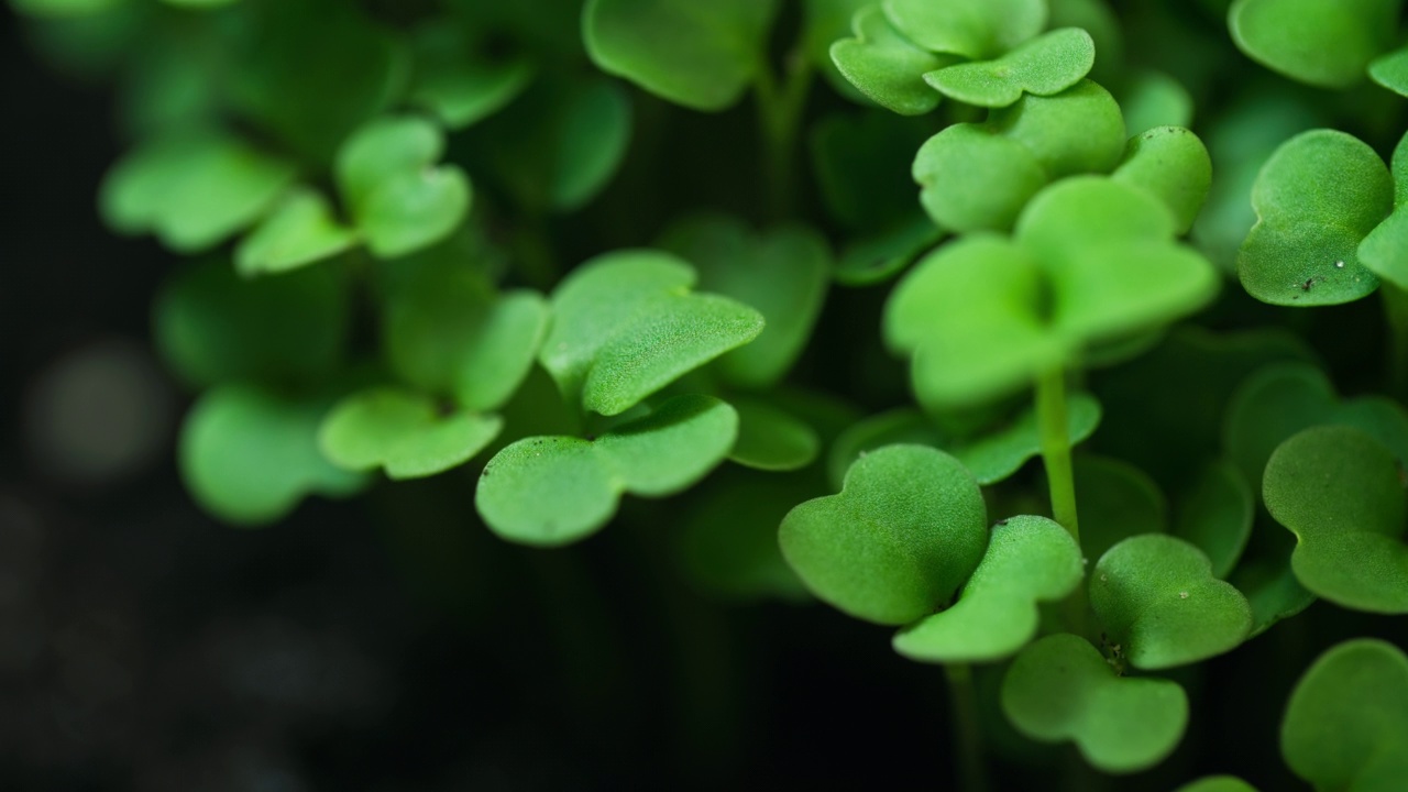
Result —
M 498 416 L 441 414 L 432 399 L 373 388 L 332 407 L 318 430 L 318 447 L 339 468 L 386 468 L 393 479 L 413 479 L 467 462 L 500 428 Z

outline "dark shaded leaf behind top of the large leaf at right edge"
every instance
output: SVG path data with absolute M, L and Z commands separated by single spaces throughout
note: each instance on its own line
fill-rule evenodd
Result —
M 1383 396 L 1340 402 L 1329 378 L 1308 364 L 1270 365 L 1247 376 L 1226 407 L 1224 447 L 1246 479 L 1259 482 L 1276 447 L 1316 424 L 1359 428 L 1408 464 L 1408 412 Z

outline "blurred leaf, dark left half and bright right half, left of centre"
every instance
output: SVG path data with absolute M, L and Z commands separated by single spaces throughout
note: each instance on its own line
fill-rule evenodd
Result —
M 397 262 L 382 326 L 391 371 L 415 388 L 496 410 L 528 375 L 548 331 L 536 292 L 498 295 L 459 256 Z

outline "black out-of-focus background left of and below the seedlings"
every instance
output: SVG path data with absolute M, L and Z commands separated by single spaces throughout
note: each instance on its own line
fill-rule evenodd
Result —
M 631 503 L 555 552 L 493 538 L 453 474 L 258 531 L 200 513 L 172 462 L 189 396 L 148 351 L 151 296 L 179 262 L 101 228 L 110 97 L 38 63 L 0 8 L 0 789 L 950 786 L 938 668 L 829 609 L 690 590 L 667 506 Z M 118 472 L 66 469 L 45 445 L 46 383 L 84 355 L 120 358 L 151 397 L 83 402 L 99 426 L 145 421 L 146 452 Z M 1335 640 L 1385 630 L 1402 641 L 1316 605 L 1184 674 L 1183 747 L 1111 788 L 1204 772 L 1301 788 L 1276 743 L 1294 679 Z M 980 682 L 991 700 L 995 676 Z M 1055 788 L 1032 761 L 1079 764 L 994 743 L 1000 788 Z

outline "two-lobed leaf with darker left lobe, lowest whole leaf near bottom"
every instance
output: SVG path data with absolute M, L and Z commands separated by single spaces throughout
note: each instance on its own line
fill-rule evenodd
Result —
M 1002 679 L 1002 712 L 1033 740 L 1071 740 L 1105 772 L 1136 772 L 1173 753 L 1188 698 L 1169 679 L 1121 678 L 1084 638 L 1048 636 L 1022 650 Z

